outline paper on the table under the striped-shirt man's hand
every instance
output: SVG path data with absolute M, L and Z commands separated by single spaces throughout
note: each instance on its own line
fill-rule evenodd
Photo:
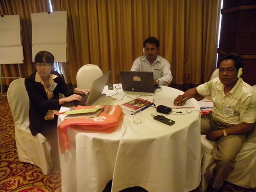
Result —
M 195 106 L 191 103 L 190 99 L 186 100 L 186 103 L 182 106 L 175 106 L 174 105 L 174 99 L 176 97 L 154 97 L 154 101 L 156 106 L 162 104 L 164 106 L 168 106 L 169 108 L 175 109 L 175 108 L 194 108 Z

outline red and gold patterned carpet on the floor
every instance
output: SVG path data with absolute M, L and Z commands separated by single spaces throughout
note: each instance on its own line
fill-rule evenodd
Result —
M 15 147 L 15 133 L 7 98 L 0 99 L 0 192 L 60 192 L 60 169 L 54 168 L 45 176 L 40 168 L 19 162 Z M 111 191 L 111 182 L 104 192 Z M 145 192 L 141 187 L 132 187 L 122 192 Z M 256 192 L 225 182 L 223 192 Z M 87 192 L 87 191 L 86 191 Z M 90 191 L 89 191 L 90 192 Z M 197 189 L 190 192 L 199 192 Z M 208 191 L 206 191 L 208 192 Z

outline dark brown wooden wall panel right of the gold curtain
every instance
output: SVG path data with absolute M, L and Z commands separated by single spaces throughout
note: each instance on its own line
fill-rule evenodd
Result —
M 256 2 L 223 1 L 219 56 L 237 53 L 244 59 L 243 80 L 256 84 Z

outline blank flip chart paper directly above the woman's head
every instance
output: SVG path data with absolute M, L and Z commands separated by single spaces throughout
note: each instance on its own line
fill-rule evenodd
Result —
M 67 62 L 67 11 L 32 13 L 32 59 L 49 51 L 55 62 Z

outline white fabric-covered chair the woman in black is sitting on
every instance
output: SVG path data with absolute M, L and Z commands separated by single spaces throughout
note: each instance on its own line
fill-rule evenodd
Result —
M 29 97 L 25 87 L 25 78 L 11 82 L 7 91 L 7 99 L 15 126 L 19 161 L 40 167 L 45 175 L 51 174 L 50 143 L 40 133 L 33 136 L 29 129 Z

